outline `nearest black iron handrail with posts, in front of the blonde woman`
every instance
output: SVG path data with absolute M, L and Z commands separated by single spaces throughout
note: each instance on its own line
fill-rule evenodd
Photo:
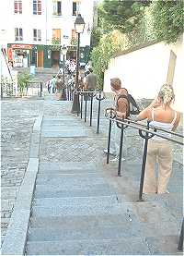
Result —
M 139 189 L 139 199 L 138 199 L 138 201 L 144 201 L 143 200 L 144 172 L 145 172 L 148 140 L 153 138 L 154 136 L 157 136 L 159 138 L 169 140 L 169 141 L 175 142 L 175 143 L 183 146 L 184 145 L 184 143 L 183 143 L 184 136 L 182 134 L 175 133 L 175 132 L 172 132 L 172 131 L 168 131 L 168 130 L 165 130 L 163 128 L 155 128 L 153 126 L 150 126 L 150 121 L 147 121 L 147 125 L 144 125 L 140 122 L 135 122 L 131 119 L 123 119 L 122 120 L 122 119 L 116 118 L 112 109 L 107 109 L 105 116 L 109 119 L 107 164 L 109 164 L 109 148 L 110 148 L 112 122 L 116 122 L 117 127 L 121 128 L 119 164 L 118 164 L 118 176 L 119 177 L 121 177 L 121 157 L 122 157 L 123 131 L 124 131 L 124 129 L 129 128 L 129 127 L 138 129 L 139 136 L 144 139 L 144 153 L 143 153 L 142 171 L 141 171 L 140 189 Z M 162 131 L 162 134 L 160 134 L 159 131 Z M 166 134 L 171 134 L 175 137 L 181 138 L 182 141 L 170 138 L 170 137 L 166 136 L 165 134 L 163 135 L 163 132 L 166 133 Z M 180 228 L 180 235 L 179 235 L 179 238 L 178 238 L 178 250 L 183 250 L 183 226 L 184 226 L 183 222 L 182 222 L 182 226 Z

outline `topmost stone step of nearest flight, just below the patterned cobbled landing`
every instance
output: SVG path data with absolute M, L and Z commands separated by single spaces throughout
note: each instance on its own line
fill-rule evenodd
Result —
M 50 172 L 51 170 L 59 171 L 61 173 L 83 173 L 83 172 L 97 172 L 97 165 L 90 162 L 63 162 L 63 163 L 48 163 L 40 162 L 39 172 Z

